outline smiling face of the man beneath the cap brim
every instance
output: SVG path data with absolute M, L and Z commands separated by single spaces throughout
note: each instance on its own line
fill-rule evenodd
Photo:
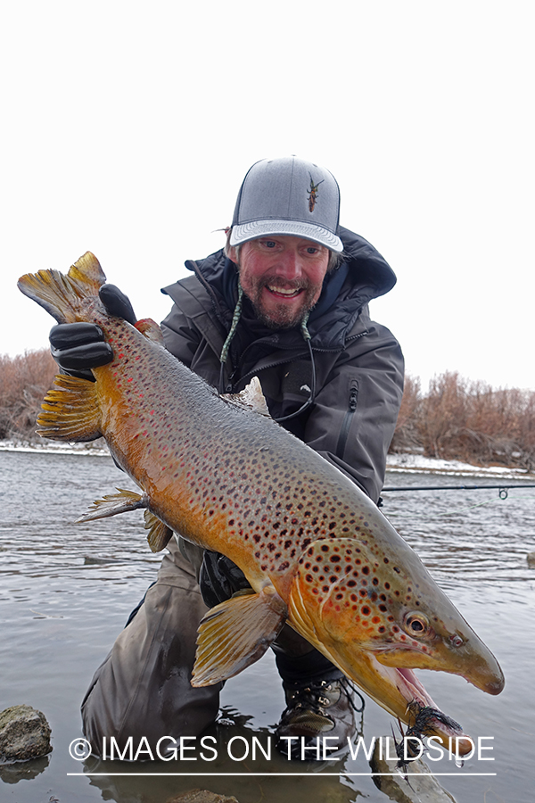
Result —
M 235 248 L 229 249 L 236 262 Z M 271 328 L 300 324 L 321 294 L 329 250 L 293 236 L 267 236 L 244 243 L 238 268 L 243 293 Z

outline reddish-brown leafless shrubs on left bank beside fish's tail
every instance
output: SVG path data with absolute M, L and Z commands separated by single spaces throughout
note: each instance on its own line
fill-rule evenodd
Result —
M 57 370 L 48 349 L 17 357 L 0 355 L 0 438 L 32 437 Z

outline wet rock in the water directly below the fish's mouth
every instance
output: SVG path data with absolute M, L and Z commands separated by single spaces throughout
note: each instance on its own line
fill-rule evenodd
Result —
M 383 749 L 388 756 L 395 756 L 396 748 L 391 737 L 388 737 L 390 744 L 388 750 Z M 383 746 L 386 738 L 381 740 Z M 422 761 L 416 758 L 408 765 L 408 781 L 396 770 L 396 759 L 387 759 L 381 754 L 379 741 L 375 742 L 374 755 L 371 758 L 370 766 L 374 773 L 392 773 L 392 775 L 374 775 L 373 781 L 377 789 L 381 790 L 391 800 L 398 803 L 456 803 L 453 795 L 443 789 L 440 783 L 433 777 L 431 770 Z

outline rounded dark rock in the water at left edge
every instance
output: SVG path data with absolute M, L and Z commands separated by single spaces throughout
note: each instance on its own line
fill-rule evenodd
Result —
M 0 712 L 0 761 L 27 761 L 50 753 L 50 725 L 31 706 L 12 706 Z

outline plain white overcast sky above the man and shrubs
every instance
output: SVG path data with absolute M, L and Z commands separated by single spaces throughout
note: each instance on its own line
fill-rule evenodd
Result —
M 223 244 L 246 170 L 296 153 L 397 273 L 372 315 L 409 373 L 535 388 L 532 8 L 4 4 L 0 353 L 53 325 L 17 278 L 87 250 L 161 320 L 161 286 Z

